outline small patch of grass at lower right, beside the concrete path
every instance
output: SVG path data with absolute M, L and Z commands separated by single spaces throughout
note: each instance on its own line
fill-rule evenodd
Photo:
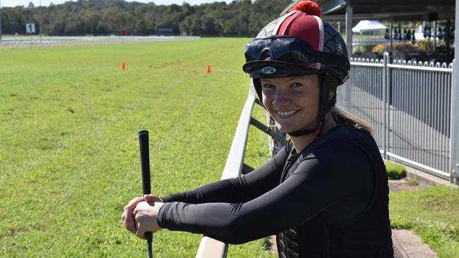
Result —
M 459 257 L 459 188 L 435 186 L 390 193 L 393 228 L 407 228 L 440 258 Z

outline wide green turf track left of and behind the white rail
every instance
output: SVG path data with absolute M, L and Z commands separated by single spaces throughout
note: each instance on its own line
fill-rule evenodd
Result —
M 248 93 L 248 41 L 0 49 L 0 257 L 144 257 L 120 219 L 142 191 L 137 131 L 150 130 L 155 194 L 220 179 Z M 246 163 L 268 158 L 251 129 Z M 155 257 L 194 257 L 200 240 L 163 230 Z M 229 257 L 273 255 L 257 240 Z

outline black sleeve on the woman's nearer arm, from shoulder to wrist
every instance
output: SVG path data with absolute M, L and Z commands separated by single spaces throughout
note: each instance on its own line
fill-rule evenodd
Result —
M 203 233 L 231 244 L 263 238 L 298 226 L 343 199 L 368 199 L 371 187 L 364 185 L 371 185 L 366 181 L 371 179 L 360 178 L 371 173 L 369 162 L 358 147 L 330 144 L 310 154 L 287 180 L 256 199 L 170 202 L 161 207 L 158 223 L 172 231 Z M 368 188 L 369 192 L 361 190 Z

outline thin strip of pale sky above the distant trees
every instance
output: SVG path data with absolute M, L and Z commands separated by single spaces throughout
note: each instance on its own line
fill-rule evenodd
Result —
M 49 3 L 53 4 L 63 4 L 68 0 L 41 0 L 42 6 L 49 6 Z M 132 2 L 133 0 L 125 0 Z M 193 5 L 203 4 L 203 3 L 213 3 L 215 1 L 225 1 L 227 3 L 232 2 L 232 0 L 136 0 L 140 3 L 152 2 L 157 5 L 168 5 L 168 4 L 179 4 L 181 5 L 184 1 L 186 3 Z M 29 6 L 29 3 L 32 2 L 34 6 L 40 6 L 40 0 L 0 0 L 1 7 L 13 7 L 13 6 Z

